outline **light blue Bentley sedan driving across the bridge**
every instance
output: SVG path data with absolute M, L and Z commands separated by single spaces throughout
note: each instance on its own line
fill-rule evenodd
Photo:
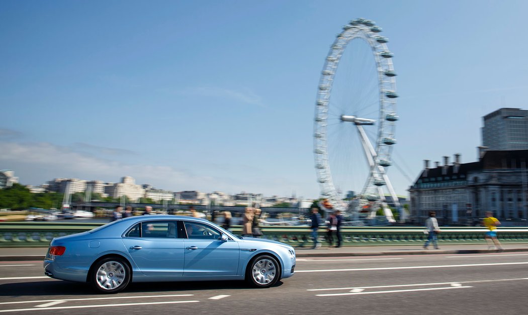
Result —
M 240 237 L 205 219 L 143 215 L 54 238 L 44 259 L 51 278 L 116 293 L 130 282 L 246 280 L 268 288 L 294 274 L 295 250 Z

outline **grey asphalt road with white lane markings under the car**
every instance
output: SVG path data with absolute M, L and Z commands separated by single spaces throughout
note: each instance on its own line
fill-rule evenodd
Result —
M 17 314 L 522 314 L 526 292 L 528 252 L 303 257 L 269 289 L 138 283 L 113 295 L 44 277 L 41 261 L 0 262 L 0 312 Z

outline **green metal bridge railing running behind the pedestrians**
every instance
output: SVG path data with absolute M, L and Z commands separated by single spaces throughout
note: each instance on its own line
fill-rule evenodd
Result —
M 65 222 L 2 222 L 0 223 L 0 247 L 48 246 L 54 237 L 89 231 L 101 223 Z M 438 234 L 439 244 L 482 243 L 485 227 L 442 227 Z M 284 242 L 295 247 L 313 245 L 312 230 L 305 226 L 263 226 L 262 237 Z M 231 231 L 241 233 L 241 226 Z M 343 227 L 343 246 L 347 245 L 410 245 L 425 242 L 423 227 Z M 326 242 L 326 229 L 318 231 L 319 241 Z M 528 243 L 528 228 L 498 227 L 497 235 L 503 243 Z

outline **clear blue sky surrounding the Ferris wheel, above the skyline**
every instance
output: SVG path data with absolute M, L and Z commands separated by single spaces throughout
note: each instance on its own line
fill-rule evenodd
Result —
M 389 176 L 407 195 L 423 159 L 476 159 L 482 116 L 528 109 L 526 12 L 524 1 L 2 1 L 0 169 L 32 185 L 128 175 L 318 197 L 320 71 L 341 26 L 365 17 L 399 74 L 403 172 Z

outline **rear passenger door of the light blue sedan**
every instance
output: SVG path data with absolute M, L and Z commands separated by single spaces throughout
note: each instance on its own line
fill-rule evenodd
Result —
M 145 275 L 181 276 L 184 268 L 184 236 L 185 233 L 177 228 L 176 220 L 147 221 L 130 228 L 122 240 Z

